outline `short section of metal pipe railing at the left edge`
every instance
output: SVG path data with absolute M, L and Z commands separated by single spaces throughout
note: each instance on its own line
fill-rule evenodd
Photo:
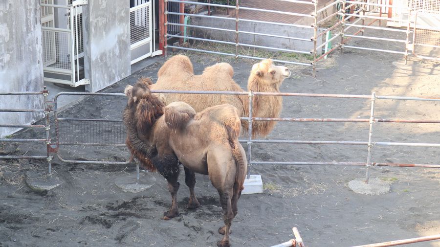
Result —
M 42 95 L 44 97 L 44 109 L 0 109 L 0 112 L 42 112 L 44 113 L 44 125 L 23 125 L 23 124 L 0 124 L 0 128 L 31 128 L 31 129 L 44 129 L 45 138 L 0 138 L 0 142 L 37 142 L 44 143 L 47 147 L 47 153 L 45 156 L 31 156 L 31 155 L 2 155 L 0 159 L 46 159 L 48 162 L 48 173 L 52 173 L 52 165 L 51 160 L 52 156 L 50 156 L 50 121 L 49 121 L 49 112 L 51 111 L 51 107 L 49 102 L 47 101 L 47 96 L 49 95 L 46 87 L 40 92 L 0 92 L 0 95 Z

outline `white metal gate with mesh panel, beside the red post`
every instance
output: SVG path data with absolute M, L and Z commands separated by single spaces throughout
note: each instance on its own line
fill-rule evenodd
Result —
M 130 7 L 130 52 L 131 64 L 144 58 L 161 55 L 155 51 L 154 3 L 152 0 L 134 0 Z

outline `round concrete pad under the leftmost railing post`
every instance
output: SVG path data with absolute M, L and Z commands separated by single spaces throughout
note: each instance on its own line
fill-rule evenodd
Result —
M 31 190 L 37 192 L 51 190 L 63 183 L 54 174 L 43 171 L 27 171 L 24 181 Z

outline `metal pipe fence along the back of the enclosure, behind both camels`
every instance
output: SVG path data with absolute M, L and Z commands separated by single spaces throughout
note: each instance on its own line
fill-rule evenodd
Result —
M 214 16 L 214 15 L 198 15 L 192 13 L 177 13 L 170 9 L 165 9 L 165 20 L 167 20 L 167 16 L 185 16 L 191 18 L 203 18 L 204 20 L 215 20 L 216 22 L 235 22 L 235 28 L 222 28 L 218 26 L 209 26 L 208 24 L 189 24 L 186 21 L 176 22 L 165 22 L 165 29 L 184 27 L 184 28 L 194 28 L 194 29 L 202 29 L 209 30 L 211 32 L 224 33 L 223 36 L 219 35 L 210 35 L 211 37 L 199 37 L 200 35 L 189 34 L 189 32 L 184 32 L 183 34 L 176 35 L 172 33 L 165 32 L 165 37 L 174 37 L 180 38 L 181 40 L 192 40 L 199 42 L 207 42 L 209 44 L 221 44 L 229 47 L 234 47 L 229 49 L 229 51 L 218 51 L 214 47 L 207 45 L 207 47 L 187 47 L 187 46 L 176 46 L 176 45 L 165 45 L 166 47 L 170 47 L 173 49 L 181 49 L 181 50 L 189 50 L 189 51 L 198 51 L 198 52 L 206 52 L 211 54 L 218 54 L 224 56 L 232 56 L 236 59 L 238 58 L 250 58 L 250 59 L 263 59 L 258 56 L 251 56 L 248 54 L 243 54 L 241 48 L 243 49 L 260 49 L 270 52 L 285 52 L 287 54 L 309 54 L 312 56 L 310 59 L 310 63 L 295 61 L 294 59 L 273 59 L 275 62 L 282 62 L 286 64 L 294 64 L 294 65 L 302 65 L 302 66 L 310 66 L 313 70 L 313 76 L 315 76 L 316 72 L 316 63 L 326 58 L 331 52 L 336 50 L 337 48 L 350 48 L 350 49 L 361 49 L 361 50 L 370 50 L 376 52 L 385 52 L 385 53 L 394 53 L 401 54 L 404 56 L 405 61 L 409 55 L 413 55 L 415 57 L 419 57 L 422 59 L 430 59 L 430 60 L 439 60 L 440 61 L 440 44 L 439 44 L 439 35 L 440 30 L 438 27 L 433 26 L 420 26 L 417 24 L 417 14 L 420 13 L 420 4 L 414 4 L 414 1 L 409 1 L 405 6 L 399 6 L 400 9 L 405 9 L 410 13 L 410 16 L 407 20 L 400 20 L 399 22 L 404 22 L 405 26 L 408 28 L 406 30 L 401 30 L 397 28 L 391 27 L 382 27 L 382 21 L 393 22 L 396 19 L 393 19 L 392 8 L 393 5 L 386 0 L 336 0 L 331 2 L 327 6 L 321 6 L 319 4 L 319 0 L 315 1 L 299 1 L 299 0 L 289 0 L 288 2 L 292 4 L 298 4 L 297 9 L 301 9 L 300 6 L 308 5 L 311 9 L 310 13 L 295 13 L 295 12 L 287 12 L 287 11 L 275 11 L 269 9 L 258 9 L 258 8 L 250 8 L 250 7 L 242 7 L 239 4 L 239 1 L 236 1 L 235 6 L 230 5 L 222 5 L 222 4 L 213 4 L 206 2 L 196 2 L 196 1 L 185 1 L 185 0 L 167 0 L 169 3 L 185 3 L 185 4 L 195 4 L 202 5 L 208 7 L 219 7 L 225 8 L 229 13 L 235 14 L 229 15 L 227 17 L 224 16 Z M 281 1 L 280 1 L 281 2 Z M 426 5 L 426 4 L 425 4 Z M 424 6 L 424 5 L 423 5 Z M 426 6 L 425 6 L 426 7 Z M 412 11 L 411 10 L 418 10 Z M 232 10 L 232 11 L 231 11 Z M 256 13 L 276 13 L 279 15 L 286 15 L 290 17 L 298 17 L 302 18 L 303 22 L 307 24 L 292 24 L 283 23 L 283 22 L 275 22 L 275 21 L 258 21 L 251 19 L 244 19 L 240 14 L 240 11 L 253 11 Z M 331 14 L 327 14 L 327 12 Z M 426 15 L 438 16 L 440 15 L 440 1 L 435 1 L 431 5 L 429 5 L 429 13 L 423 12 Z M 433 13 L 434 12 L 434 13 Z M 406 13 L 406 12 L 405 12 Z M 412 13 L 412 14 L 411 14 Z M 383 15 L 382 15 L 383 14 Z M 388 16 L 387 16 L 388 15 Z M 404 15 L 404 13 L 402 13 Z M 337 17 L 337 18 L 336 18 Z M 400 18 L 401 19 L 401 18 Z M 181 18 L 180 20 L 184 20 Z M 275 24 L 278 28 L 271 29 L 270 33 L 264 33 L 261 31 L 251 32 L 249 28 L 243 28 L 241 25 L 245 23 L 264 23 L 264 24 Z M 330 24 L 329 24 L 330 23 Z M 377 25 L 378 23 L 378 25 Z M 410 26 L 412 27 L 410 29 Z M 283 35 L 282 28 L 303 28 L 304 30 L 310 30 L 310 37 L 295 37 L 295 35 Z M 279 29 L 279 30 L 278 30 Z M 367 30 L 381 30 L 386 31 L 388 34 L 385 37 L 379 36 L 376 33 L 372 33 L 369 36 L 364 35 L 367 33 Z M 286 31 L 286 30 L 284 30 Z M 280 32 L 280 33 L 279 33 Z M 390 34 L 390 32 L 392 34 Z M 382 32 L 385 33 L 385 32 Z M 418 34 L 419 35 L 416 35 Z M 414 34 L 414 38 L 413 35 Z M 281 41 L 288 41 L 284 43 L 290 42 L 303 42 L 304 45 L 311 44 L 310 50 L 300 50 L 293 49 L 290 47 L 277 47 L 277 46 L 268 46 L 268 45 L 256 45 L 254 43 L 243 42 L 243 36 L 252 35 L 254 40 L 258 37 L 265 36 L 274 39 L 278 39 Z M 363 39 L 363 40 L 375 40 L 378 44 L 374 45 L 374 47 L 364 47 L 360 45 L 348 45 L 348 42 L 352 39 Z M 166 39 L 165 39 L 166 40 Z M 266 42 L 265 44 L 267 44 Z M 397 45 L 390 45 L 397 44 Z M 397 46 L 398 48 L 393 49 L 389 48 L 389 46 Z M 429 54 L 418 54 L 415 46 L 421 47 L 431 47 L 434 48 L 436 52 L 431 52 Z M 300 47 L 300 46 L 298 46 Z M 411 52 L 412 51 L 412 52 Z M 166 49 L 165 49 L 166 55 Z M 276 54 L 275 54 L 276 56 Z

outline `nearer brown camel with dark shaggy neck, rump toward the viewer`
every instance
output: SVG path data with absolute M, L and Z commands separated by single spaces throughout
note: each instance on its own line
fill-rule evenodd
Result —
M 184 102 L 164 107 L 152 95 L 148 79 L 127 86 L 128 103 L 123 113 L 127 129 L 127 146 L 146 168 L 157 170 L 168 181 L 172 204 L 164 213 L 169 220 L 178 213 L 176 194 L 179 188 L 179 162 L 190 189 L 188 208 L 197 208 L 194 193 L 195 172 L 209 176 L 220 195 L 224 226 L 219 233 L 219 247 L 229 247 L 232 220 L 237 215 L 237 201 L 243 189 L 247 162 L 238 141 L 240 117 L 229 104 L 196 111 Z

